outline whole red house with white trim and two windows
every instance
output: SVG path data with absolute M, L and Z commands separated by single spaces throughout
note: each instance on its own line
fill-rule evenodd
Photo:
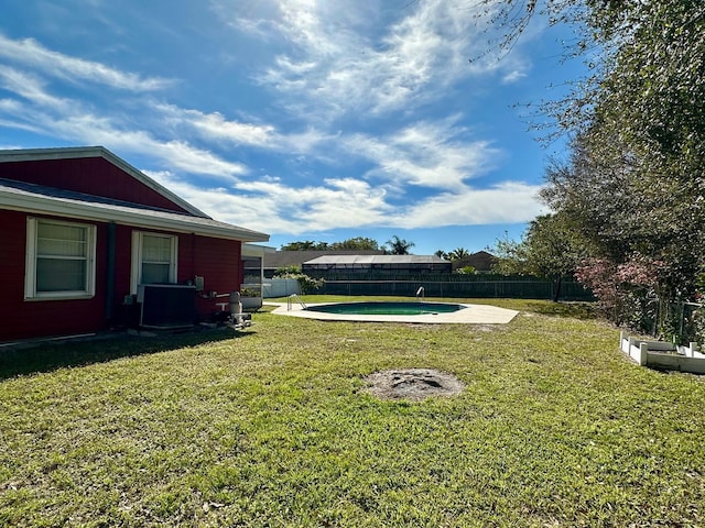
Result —
M 206 320 L 267 240 L 101 146 L 0 151 L 0 341 Z

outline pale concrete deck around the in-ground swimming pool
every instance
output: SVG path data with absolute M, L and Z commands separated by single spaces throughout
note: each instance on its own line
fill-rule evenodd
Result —
M 279 316 L 303 317 L 305 319 L 318 319 L 322 321 L 360 321 L 360 322 L 416 322 L 422 324 L 507 324 L 519 314 L 507 308 L 497 308 L 488 305 L 466 305 L 465 308 L 449 314 L 423 314 L 420 316 L 382 316 L 382 315 L 352 315 L 352 314 L 324 314 L 323 311 L 306 311 L 297 302 L 292 302 L 291 310 L 286 302 L 265 302 L 276 306 L 272 314 Z M 321 306 L 330 302 L 312 302 L 307 306 Z

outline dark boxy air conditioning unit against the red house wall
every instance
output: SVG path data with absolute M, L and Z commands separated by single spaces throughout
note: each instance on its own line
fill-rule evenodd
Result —
M 196 287 L 181 284 L 140 284 L 140 327 L 161 330 L 196 323 Z

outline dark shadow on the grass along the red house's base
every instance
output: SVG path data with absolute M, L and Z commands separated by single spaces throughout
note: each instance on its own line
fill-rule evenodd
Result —
M 99 336 L 86 340 L 39 342 L 29 346 L 0 350 L 0 382 L 26 374 L 46 373 L 63 367 L 106 363 L 121 358 L 154 354 L 214 341 L 245 338 L 252 330 L 200 330 L 155 337 L 127 333 Z

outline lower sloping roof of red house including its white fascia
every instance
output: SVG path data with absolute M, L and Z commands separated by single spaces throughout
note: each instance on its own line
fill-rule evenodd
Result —
M 43 185 L 0 178 L 0 206 L 4 209 L 54 215 L 72 219 L 119 222 L 205 237 L 265 242 L 269 235 L 219 222 L 207 216 L 180 215 L 163 209 L 112 200 Z

